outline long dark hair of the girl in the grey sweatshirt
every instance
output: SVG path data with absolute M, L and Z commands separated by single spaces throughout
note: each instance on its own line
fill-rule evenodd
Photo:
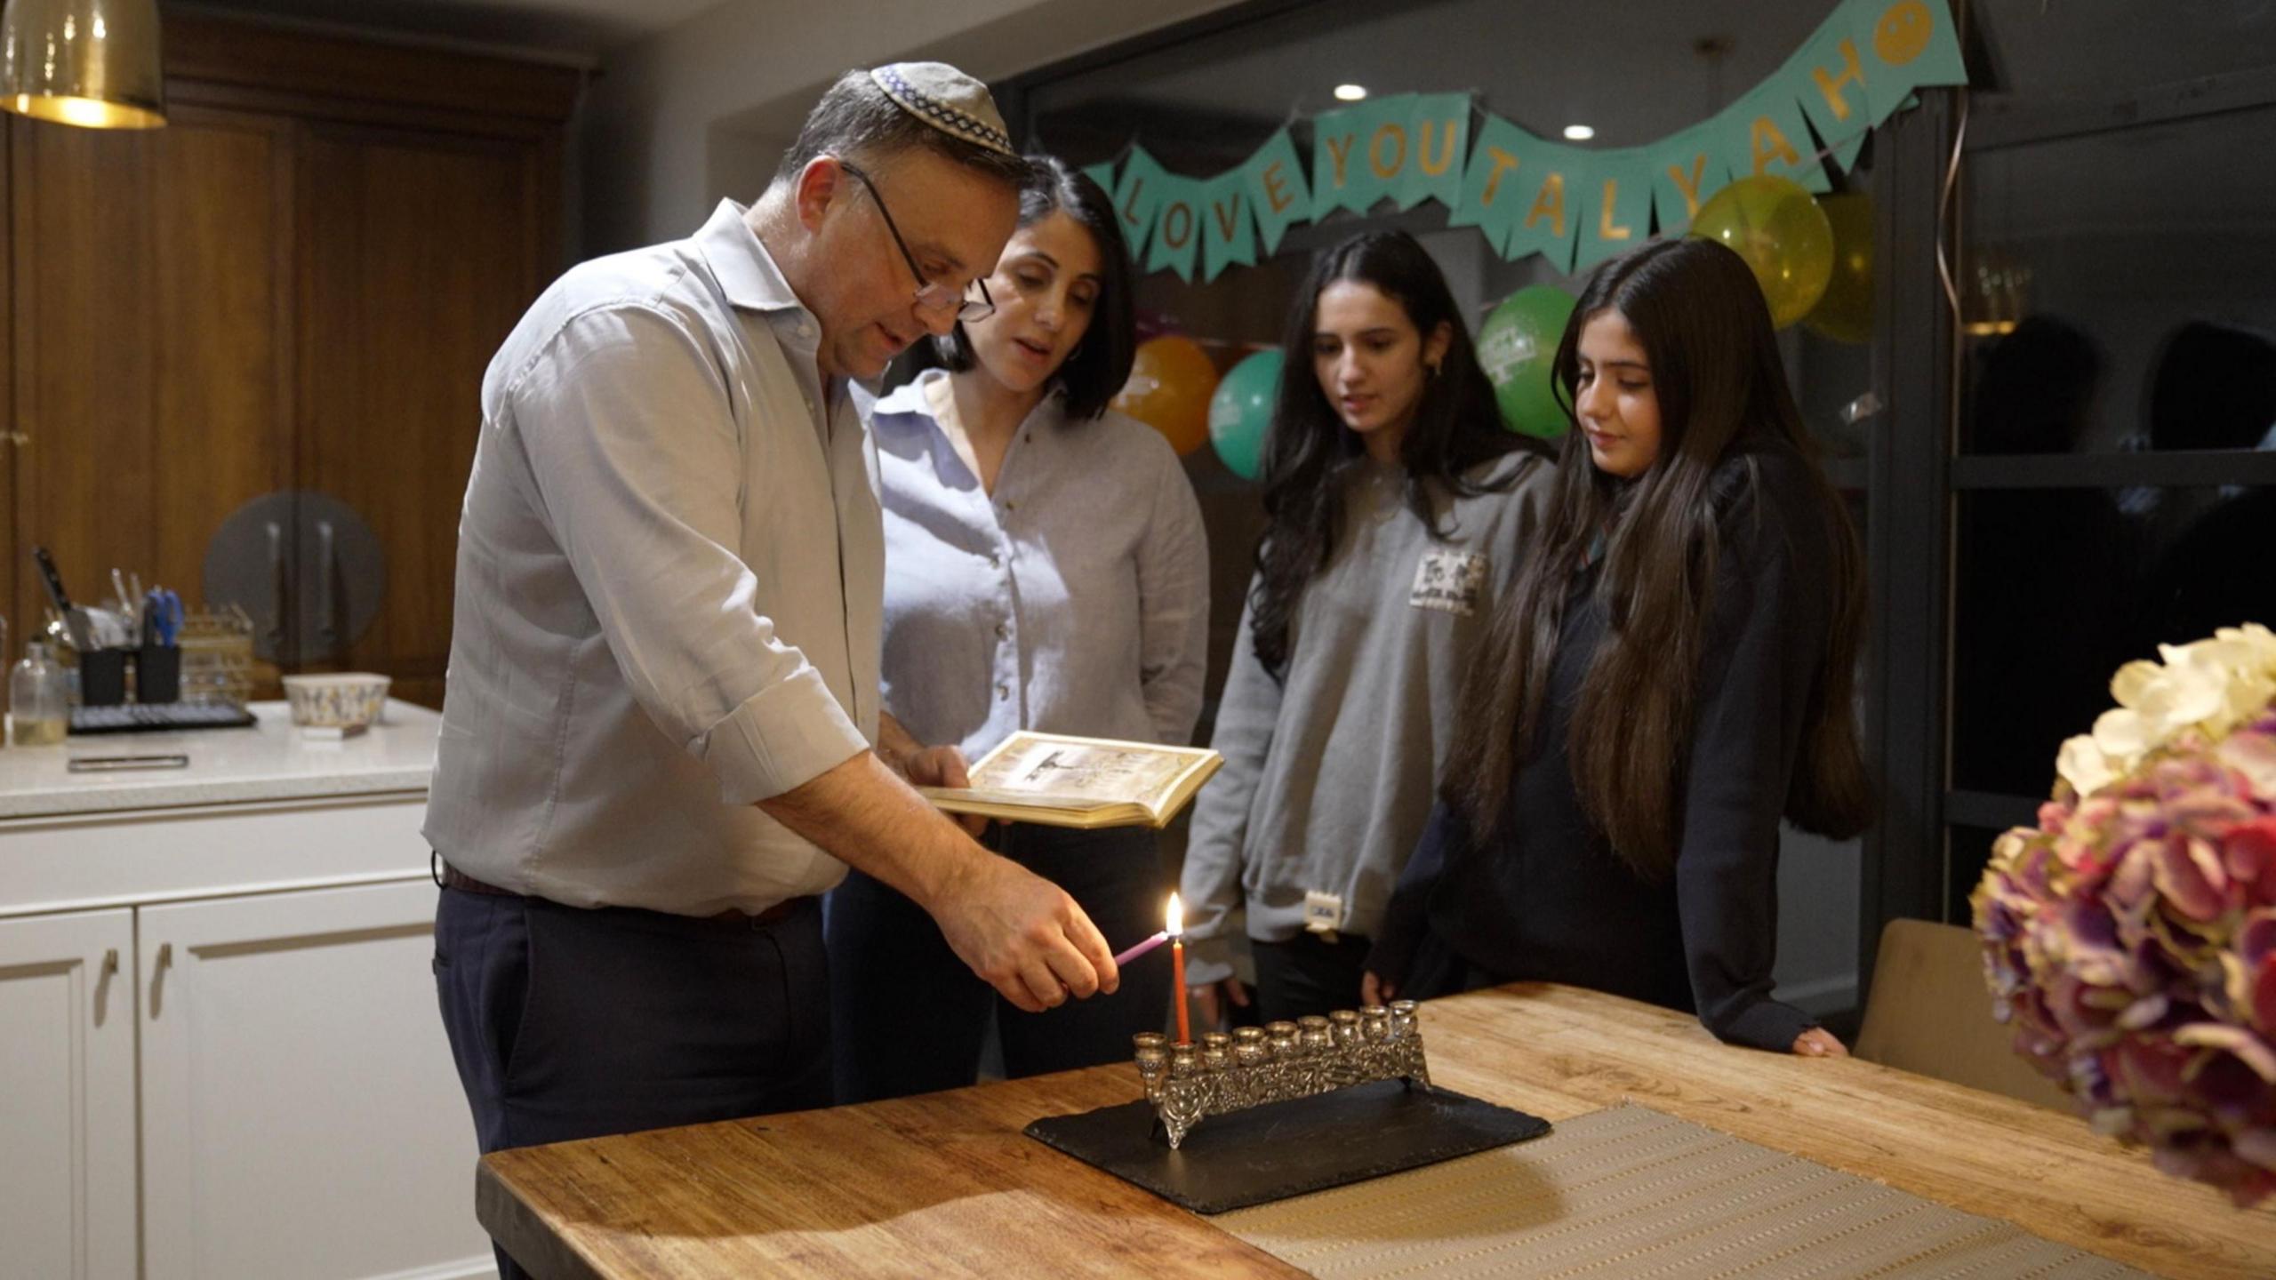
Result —
M 1395 301 L 1425 346 L 1441 323 L 1452 335 L 1438 371 L 1422 383 L 1422 403 L 1416 405 L 1413 426 L 1400 446 L 1407 506 L 1432 538 L 1448 535 L 1438 526 L 1436 501 L 1509 485 L 1509 481 L 1484 485 L 1466 478 L 1466 471 L 1511 449 L 1532 446 L 1529 437 L 1502 430 L 1493 383 L 1477 364 L 1470 328 L 1461 323 L 1445 276 L 1416 237 L 1402 230 L 1370 230 L 1320 253 L 1288 310 L 1281 337 L 1286 358 L 1279 396 L 1272 403 L 1272 435 L 1265 440 L 1265 533 L 1256 542 L 1250 631 L 1256 638 L 1256 660 L 1268 672 L 1288 665 L 1288 622 L 1295 617 L 1304 583 L 1327 567 L 1343 535 L 1345 476 L 1368 456 L 1359 433 L 1327 403 L 1311 362 L 1320 294 L 1338 280 L 1370 285 Z

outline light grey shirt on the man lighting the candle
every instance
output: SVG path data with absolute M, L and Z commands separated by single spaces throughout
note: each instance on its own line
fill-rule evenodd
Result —
M 571 269 L 508 335 L 428 799 L 451 865 L 685 916 L 844 877 L 753 809 L 876 738 L 876 458 L 819 333 L 721 203 Z

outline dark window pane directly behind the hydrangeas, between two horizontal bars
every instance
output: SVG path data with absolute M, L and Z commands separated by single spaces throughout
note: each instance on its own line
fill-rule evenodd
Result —
M 1966 490 L 1953 786 L 2046 795 L 2055 749 L 2158 645 L 2276 624 L 2276 487 Z

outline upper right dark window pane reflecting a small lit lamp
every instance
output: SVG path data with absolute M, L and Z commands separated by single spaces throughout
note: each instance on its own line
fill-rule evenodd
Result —
M 1966 162 L 1969 453 L 2276 444 L 2276 107 Z

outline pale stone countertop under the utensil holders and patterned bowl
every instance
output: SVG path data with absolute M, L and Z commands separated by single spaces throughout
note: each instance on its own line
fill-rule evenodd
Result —
M 0 820 L 328 795 L 426 793 L 442 715 L 387 699 L 380 722 L 344 740 L 307 738 L 287 704 L 255 701 L 248 729 L 75 736 L 59 747 L 0 747 Z M 189 768 L 68 772 L 73 756 L 184 754 Z

